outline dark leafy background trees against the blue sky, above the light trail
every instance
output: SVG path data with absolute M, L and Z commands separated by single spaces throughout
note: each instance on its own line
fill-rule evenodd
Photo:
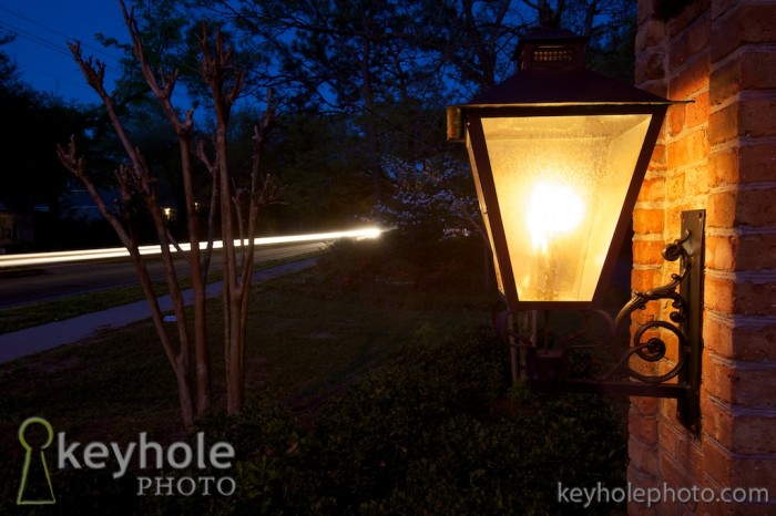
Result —
M 116 9 L 119 7 L 116 6 Z M 407 174 L 422 182 L 443 171 L 429 163 L 463 159 L 445 142 L 445 106 L 463 102 L 514 73 L 521 34 L 539 24 L 561 25 L 591 38 L 589 65 L 623 81 L 633 73 L 635 0 L 156 0 L 137 1 L 137 20 L 150 65 L 177 70 L 184 113 L 195 109 L 193 132 L 214 131 L 212 101 L 200 80 L 203 24 L 234 47 L 232 66 L 244 73 L 228 138 L 231 165 L 251 171 L 252 130 L 272 91 L 276 117 L 263 167 L 284 185 L 283 204 L 263 218 L 262 230 L 302 231 L 367 217 L 376 206 L 396 209 Z M 170 224 L 185 233 L 178 148 L 167 117 L 154 101 L 124 34 L 101 35 L 124 50 L 116 112 L 176 208 Z M 39 247 L 83 247 L 65 194 L 72 180 L 55 145 L 75 135 L 93 176 L 110 184 L 121 145 L 96 105 L 76 105 L 32 91 L 19 81 L 0 39 L 0 146 L 4 151 L 0 203 L 42 214 Z M 181 90 L 178 87 L 178 90 Z M 95 97 L 95 103 L 98 99 Z M 206 206 L 206 172 L 195 165 Z M 436 184 L 436 183 L 435 183 Z M 471 185 L 458 186 L 461 197 Z M 442 185 L 442 187 L 448 187 Z M 464 190 L 460 190 L 464 188 Z M 110 197 L 111 192 L 105 192 Z M 390 210 L 389 209 L 389 210 Z M 378 210 L 379 211 L 379 210 Z M 382 209 L 381 211 L 386 211 Z M 459 217 L 460 218 L 460 217 Z M 141 225 L 143 235 L 153 231 Z M 95 237 L 100 231 L 86 233 Z M 69 235 L 64 238 L 63 235 Z M 112 239 L 105 231 L 106 239 Z

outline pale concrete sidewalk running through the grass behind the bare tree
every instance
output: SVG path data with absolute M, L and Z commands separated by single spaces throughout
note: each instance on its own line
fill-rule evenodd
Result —
M 253 282 L 265 281 L 283 275 L 296 272 L 315 265 L 316 258 L 270 267 L 259 270 L 253 276 Z M 221 293 L 221 281 L 207 286 L 206 296 L 214 297 Z M 183 292 L 186 305 L 192 302 L 192 291 Z M 170 296 L 159 298 L 162 310 L 172 310 Z M 41 351 L 72 344 L 80 340 L 94 336 L 100 330 L 121 328 L 131 322 L 142 321 L 151 317 L 149 303 L 145 300 L 130 305 L 109 308 L 93 313 L 67 319 L 64 321 L 50 322 L 48 324 L 27 328 L 0 336 L 0 363 L 9 362 L 20 357 L 39 353 Z

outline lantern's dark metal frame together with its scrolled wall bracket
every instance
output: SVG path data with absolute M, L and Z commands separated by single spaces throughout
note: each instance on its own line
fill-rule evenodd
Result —
M 512 350 L 513 376 L 522 375 L 540 391 L 588 391 L 635 396 L 674 398 L 680 400 L 680 420 L 697 431 L 700 424 L 698 389 L 701 383 L 702 310 L 703 310 L 703 211 L 683 215 L 682 236 L 666 246 L 665 259 L 681 261 L 681 271 L 672 281 L 646 292 L 635 292 L 614 318 L 600 310 L 616 265 L 622 242 L 630 229 L 632 211 L 661 132 L 666 111 L 675 102 L 584 69 L 585 38 L 569 31 L 541 29 L 521 40 L 518 47 L 520 71 L 512 78 L 476 96 L 467 104 L 448 107 L 448 140 L 467 142 L 480 207 L 491 240 L 500 288 L 508 310 L 498 320 L 500 334 Z M 591 300 L 541 301 L 521 300 L 512 269 L 500 199 L 493 179 L 482 121 L 500 117 L 553 117 L 598 115 L 650 115 L 642 147 L 624 197 L 612 240 Z M 678 289 L 678 290 L 677 290 Z M 566 364 L 579 344 L 551 349 L 548 343 L 529 342 L 511 323 L 514 314 L 525 311 L 581 310 L 605 321 L 602 341 L 583 347 L 609 348 L 616 353 L 619 333 L 630 322 L 633 311 L 650 301 L 667 300 L 674 311 L 668 321 L 651 321 L 629 338 L 627 349 L 615 359 L 616 365 L 596 379 L 569 379 Z M 630 324 L 629 324 L 630 327 Z M 676 353 L 668 353 L 670 343 L 661 337 L 670 333 Z M 584 331 L 566 339 L 572 342 Z M 656 333 L 656 334 L 653 334 Z M 649 338 L 645 336 L 650 336 Z M 642 339 L 646 338 L 646 342 Z M 518 359 L 518 351 L 522 358 Z M 645 374 L 631 367 L 632 360 L 657 362 L 675 357 L 675 364 L 664 374 Z M 518 363 L 519 362 L 519 363 Z

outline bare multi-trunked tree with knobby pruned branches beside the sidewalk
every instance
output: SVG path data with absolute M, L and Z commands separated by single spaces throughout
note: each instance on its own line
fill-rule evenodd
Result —
M 151 314 L 167 360 L 173 368 L 178 386 L 178 398 L 183 423 L 191 429 L 197 415 L 211 406 L 211 360 L 207 341 L 207 305 L 205 285 L 213 249 L 214 225 L 221 218 L 221 234 L 224 241 L 223 300 L 225 328 L 225 359 L 227 364 L 227 411 L 236 413 L 243 406 L 245 337 L 247 327 L 247 303 L 253 274 L 254 235 L 258 211 L 263 205 L 274 200 L 276 189 L 269 176 L 259 173 L 259 151 L 266 134 L 272 111 L 269 106 L 264 118 L 255 127 L 254 155 L 251 180 L 247 188 L 239 188 L 228 166 L 228 142 L 226 128 L 232 105 L 239 95 L 243 75 L 231 66 L 233 50 L 225 44 L 223 35 L 217 32 L 212 38 L 203 25 L 200 37 L 202 50 L 201 73 L 213 95 L 217 131 L 213 137 L 213 153 L 208 156 L 204 142 L 193 145 L 193 111 L 183 116 L 173 105 L 173 92 L 176 84 L 175 70 L 154 71 L 149 64 L 143 39 L 132 11 L 127 11 L 123 0 L 119 0 L 124 21 L 130 32 L 134 58 L 140 64 L 143 79 L 162 106 L 175 131 L 180 147 L 181 175 L 184 185 L 185 213 L 188 229 L 188 248 L 182 246 L 169 231 L 163 208 L 160 206 L 157 179 L 146 163 L 140 148 L 135 147 L 127 135 L 116 112 L 114 99 L 104 86 L 104 63 L 83 58 L 79 43 L 70 44 L 74 60 L 81 68 L 89 85 L 102 100 L 113 130 L 124 148 L 127 161 L 121 163 L 115 173 L 121 198 L 118 206 L 109 207 L 102 199 L 90 175 L 85 161 L 78 154 L 74 138 L 69 146 L 58 148 L 62 164 L 84 184 L 102 216 L 111 224 L 121 242 L 130 252 L 135 271 L 141 280 L 143 292 L 151 307 Z M 215 40 L 213 45 L 211 40 Z M 194 168 L 192 156 L 203 161 L 212 174 L 211 208 L 207 217 L 207 236 L 201 237 L 200 219 L 194 189 Z M 175 326 L 165 324 L 156 292 L 147 272 L 146 264 L 140 254 L 140 238 L 134 209 L 140 204 L 150 214 L 156 237 L 161 245 L 162 264 L 166 286 L 173 301 Z M 238 226 L 242 242 L 237 252 L 234 224 Z M 247 224 L 246 224 L 247 223 Z M 204 249 L 201 244 L 206 244 Z M 185 256 L 191 272 L 193 317 L 185 311 L 182 296 L 180 272 L 174 262 L 174 255 Z M 193 321 L 191 320 L 193 319 Z M 192 365 L 192 357 L 194 364 Z M 196 379 L 192 384 L 191 378 Z

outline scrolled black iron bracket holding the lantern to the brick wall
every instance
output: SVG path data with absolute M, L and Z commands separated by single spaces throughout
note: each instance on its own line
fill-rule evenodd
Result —
M 603 392 L 632 396 L 673 398 L 677 400 L 678 419 L 688 429 L 700 429 L 701 352 L 703 316 L 703 267 L 704 267 L 705 211 L 682 214 L 682 236 L 663 249 L 666 261 L 680 260 L 678 274 L 671 275 L 666 285 L 647 291 L 635 291 L 616 317 L 606 312 L 600 316 L 604 337 L 593 339 L 592 344 L 573 344 L 579 334 L 572 332 L 562 339 L 559 347 L 548 349 L 520 336 L 501 318 L 497 323 L 502 340 L 510 343 L 513 352 L 523 353 L 523 375 L 534 389 L 542 392 Z M 652 320 L 635 328 L 627 339 L 631 316 L 644 310 L 651 301 L 667 301 L 672 311 L 667 320 Z M 509 317 L 508 317 L 509 318 Z M 630 332 L 629 332 L 630 333 Z M 623 350 L 624 341 L 627 345 Z M 569 379 L 564 375 L 571 351 L 583 348 L 607 349 L 614 365 L 595 378 Z M 675 348 L 675 353 L 670 350 Z M 617 351 L 620 350 L 620 351 Z M 513 354 L 514 357 L 514 354 Z M 667 360 L 671 357 L 671 360 Z M 650 373 L 635 364 L 664 361 L 667 371 Z M 513 371 L 519 368 L 513 367 Z M 645 368 L 650 369 L 650 368 Z

